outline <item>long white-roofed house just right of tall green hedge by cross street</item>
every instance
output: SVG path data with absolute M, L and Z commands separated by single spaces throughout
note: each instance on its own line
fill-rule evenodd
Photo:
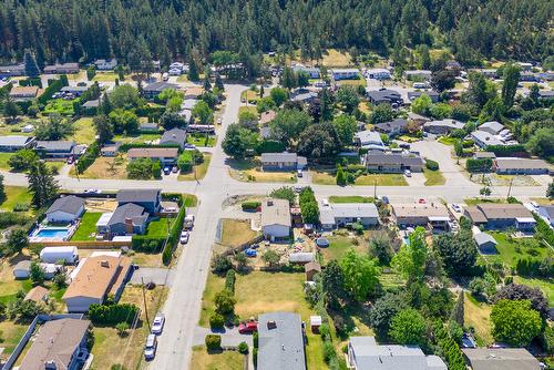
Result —
M 360 223 L 363 227 L 379 225 L 379 212 L 373 203 L 330 203 L 319 207 L 324 229 Z

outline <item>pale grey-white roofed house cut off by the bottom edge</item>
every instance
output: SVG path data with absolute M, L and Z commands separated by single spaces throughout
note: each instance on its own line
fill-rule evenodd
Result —
M 447 370 L 438 356 L 418 346 L 378 345 L 375 337 L 350 337 L 347 366 L 352 370 Z

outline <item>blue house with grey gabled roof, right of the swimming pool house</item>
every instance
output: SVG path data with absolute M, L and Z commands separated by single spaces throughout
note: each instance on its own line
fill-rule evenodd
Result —
M 107 222 L 106 230 L 110 236 L 144 234 L 150 214 L 134 203 L 120 205 Z

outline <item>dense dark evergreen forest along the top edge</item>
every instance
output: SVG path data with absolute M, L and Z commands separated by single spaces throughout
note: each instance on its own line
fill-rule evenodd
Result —
M 258 58 L 328 48 L 402 54 L 449 47 L 464 65 L 483 58 L 543 61 L 554 54 L 551 0 L 2 0 L 0 59 L 39 63 L 129 61 L 215 50 Z

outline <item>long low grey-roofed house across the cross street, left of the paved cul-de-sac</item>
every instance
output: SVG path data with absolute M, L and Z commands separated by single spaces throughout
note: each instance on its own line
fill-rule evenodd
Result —
M 369 172 L 402 173 L 406 169 L 422 172 L 424 162 L 421 156 L 413 153 L 381 153 L 370 151 L 363 157 L 363 164 Z

